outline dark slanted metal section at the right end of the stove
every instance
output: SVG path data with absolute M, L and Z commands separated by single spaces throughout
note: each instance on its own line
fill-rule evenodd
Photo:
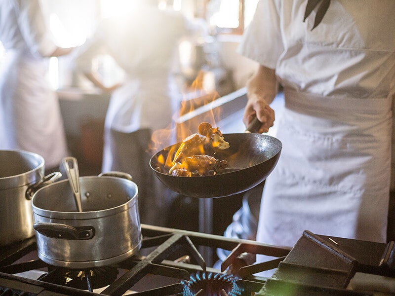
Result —
M 394 242 L 329 237 L 306 230 L 260 295 L 395 295 L 394 254 Z

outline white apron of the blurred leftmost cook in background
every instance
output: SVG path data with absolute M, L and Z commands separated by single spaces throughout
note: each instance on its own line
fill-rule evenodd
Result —
M 38 153 L 45 169 L 68 154 L 58 98 L 48 85 L 43 59 L 7 51 L 0 69 L 0 149 Z

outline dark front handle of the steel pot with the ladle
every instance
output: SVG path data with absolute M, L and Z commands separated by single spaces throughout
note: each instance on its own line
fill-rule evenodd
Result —
M 67 224 L 38 222 L 33 228 L 51 238 L 86 240 L 95 236 L 95 228 L 92 226 L 73 227 Z

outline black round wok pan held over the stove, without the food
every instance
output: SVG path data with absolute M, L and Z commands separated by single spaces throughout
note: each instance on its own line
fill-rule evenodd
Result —
M 173 191 L 189 197 L 217 198 L 244 192 L 262 183 L 275 168 L 282 144 L 271 136 L 256 133 L 224 134 L 230 148 L 218 150 L 215 157 L 227 160 L 223 173 L 213 176 L 178 177 L 158 161 L 175 153 L 181 143 L 157 152 L 150 160 L 155 176 Z M 170 155 L 171 159 L 173 155 Z M 163 173 L 164 172 L 164 173 Z

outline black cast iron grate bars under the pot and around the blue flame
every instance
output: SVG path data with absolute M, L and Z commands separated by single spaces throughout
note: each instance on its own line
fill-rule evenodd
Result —
M 256 270 L 276 267 L 290 250 L 254 241 L 145 224 L 142 224 L 142 234 L 143 244 L 139 254 L 97 269 L 73 270 L 48 265 L 38 259 L 34 238 L 0 248 L 0 296 L 2 293 L 18 296 L 181 296 L 184 294 L 186 283 L 191 279 L 196 281 L 199 277 L 207 278 L 212 285 L 211 288 L 215 287 L 220 291 L 218 295 L 250 296 L 252 292 L 258 292 L 262 288 L 266 279 L 252 274 Z M 201 248 L 231 251 L 228 258 L 222 262 L 222 271 L 206 266 L 206 261 L 199 252 Z M 258 267 L 248 266 L 243 271 L 243 278 L 224 273 L 227 267 L 245 252 L 266 254 L 278 259 L 276 263 L 263 263 Z M 32 254 L 35 256 L 33 259 Z M 30 258 L 26 259 L 27 257 Z M 31 270 L 40 270 L 42 274 L 34 279 L 21 276 L 21 273 Z M 251 273 L 248 274 L 249 272 Z M 144 284 L 141 284 L 142 282 Z M 147 285 L 147 282 L 150 285 Z M 208 287 L 204 281 L 200 284 L 201 287 Z M 224 287 L 221 288 L 221 285 Z M 102 286 L 104 288 L 97 292 L 97 288 Z M 192 286 L 196 289 L 197 283 Z M 128 294 L 131 290 L 133 294 Z M 205 294 L 207 291 L 199 289 L 196 295 L 215 295 Z

